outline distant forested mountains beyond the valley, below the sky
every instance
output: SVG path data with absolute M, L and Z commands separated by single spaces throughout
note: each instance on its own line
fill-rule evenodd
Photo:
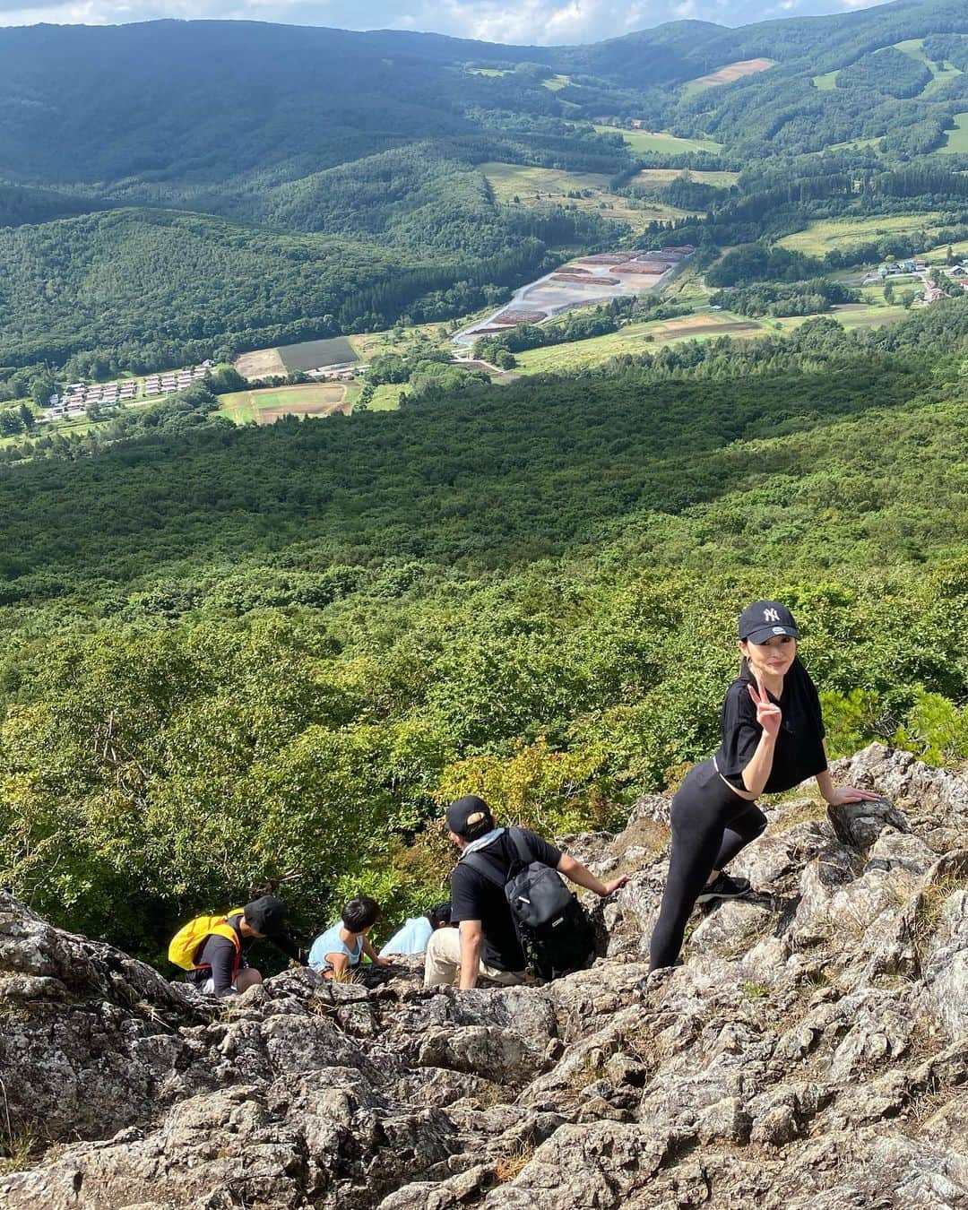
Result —
M 679 238 L 776 238 L 823 213 L 830 180 L 870 197 L 872 174 L 945 142 L 968 109 L 963 44 L 960 0 L 736 30 L 682 21 L 588 47 L 246 22 L 0 30 L 0 367 L 81 353 L 160 368 L 449 318 L 630 238 L 607 208 L 499 202 L 480 171 L 495 161 L 598 173 L 633 200 L 643 165 L 742 169 L 739 203 L 669 190 L 713 212 Z M 690 82 L 755 57 L 774 65 Z M 601 119 L 721 146 L 636 150 Z M 777 207 L 771 189 L 791 179 L 800 198 Z M 957 226 L 957 196 L 908 206 L 940 204 Z

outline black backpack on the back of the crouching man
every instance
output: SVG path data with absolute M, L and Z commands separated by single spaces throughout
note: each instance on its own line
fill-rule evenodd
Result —
M 477 853 L 462 858 L 463 864 L 505 888 L 528 966 L 540 979 L 581 970 L 595 953 L 592 917 L 557 870 L 530 859 L 528 841 L 519 828 L 508 828 L 508 836 L 518 851 L 518 860 L 508 870 L 507 881 Z

